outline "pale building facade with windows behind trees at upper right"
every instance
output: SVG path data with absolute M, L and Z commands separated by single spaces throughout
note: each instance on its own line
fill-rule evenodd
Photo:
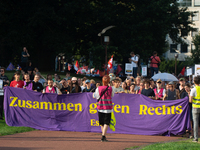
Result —
M 188 11 L 196 12 L 195 16 L 191 19 L 194 21 L 193 27 L 197 29 L 195 32 L 189 32 L 188 35 L 186 35 L 183 40 L 187 44 L 175 44 L 172 42 L 172 40 L 169 38 L 169 36 L 166 37 L 166 40 L 169 43 L 169 50 L 165 53 L 165 57 L 168 59 L 174 59 L 175 54 L 177 53 L 175 51 L 178 50 L 178 60 L 184 61 L 185 57 L 191 55 L 191 49 L 194 49 L 194 45 L 192 43 L 192 38 L 199 33 L 200 31 L 200 0 L 178 0 L 180 7 L 188 7 Z

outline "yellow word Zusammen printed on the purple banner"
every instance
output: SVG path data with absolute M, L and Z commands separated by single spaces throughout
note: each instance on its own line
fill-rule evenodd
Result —
M 18 97 L 11 96 L 11 107 L 23 107 L 29 109 L 46 109 L 46 110 L 68 110 L 68 111 L 82 111 L 81 103 L 73 104 L 68 103 L 51 103 L 51 102 L 38 102 L 30 100 L 20 100 Z

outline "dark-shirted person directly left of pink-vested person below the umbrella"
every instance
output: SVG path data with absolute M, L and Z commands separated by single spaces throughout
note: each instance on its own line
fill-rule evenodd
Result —
M 150 88 L 150 81 L 149 80 L 144 81 L 144 89 L 142 89 L 141 94 L 145 95 L 149 98 L 152 98 L 152 99 L 155 97 L 155 93 L 154 93 L 153 89 Z

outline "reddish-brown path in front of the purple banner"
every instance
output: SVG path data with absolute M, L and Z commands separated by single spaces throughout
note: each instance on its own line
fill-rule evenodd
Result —
M 100 133 L 69 131 L 31 131 L 0 137 L 0 150 L 123 150 L 179 137 L 108 134 L 101 142 Z

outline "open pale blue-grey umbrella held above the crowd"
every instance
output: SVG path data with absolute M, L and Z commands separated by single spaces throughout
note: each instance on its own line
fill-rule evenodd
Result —
M 161 79 L 162 81 L 178 81 L 178 79 L 170 74 L 170 73 L 158 73 L 158 74 L 155 74 L 152 79 L 154 81 L 158 80 L 158 79 Z

